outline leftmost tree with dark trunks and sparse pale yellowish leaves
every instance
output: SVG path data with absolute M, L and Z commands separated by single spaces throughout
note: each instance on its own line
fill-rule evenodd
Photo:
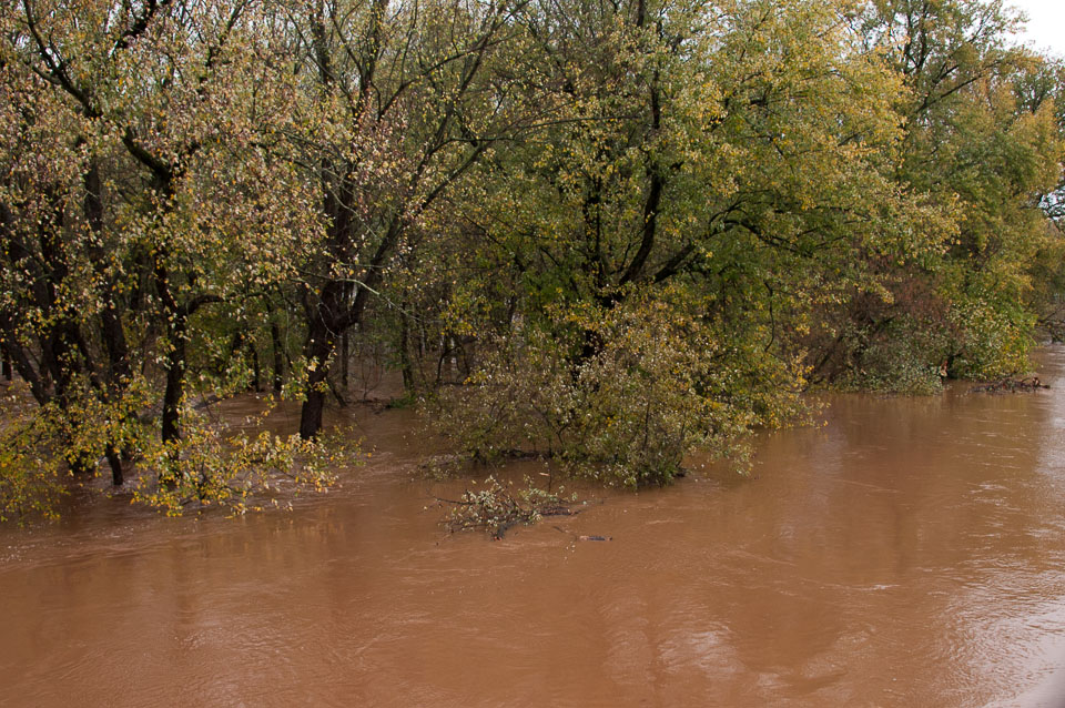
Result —
M 290 97 L 246 82 L 260 10 L 26 0 L 3 17 L 4 120 L 31 138 L 4 152 L 3 346 L 60 458 L 88 471 L 105 452 L 115 484 L 121 453 L 152 451 L 170 490 L 214 484 L 181 461 L 197 444 L 181 429 L 189 343 L 216 336 L 207 305 L 240 321 L 291 281 L 316 227 L 313 192 L 270 150 Z M 158 445 L 141 425 L 156 372 Z

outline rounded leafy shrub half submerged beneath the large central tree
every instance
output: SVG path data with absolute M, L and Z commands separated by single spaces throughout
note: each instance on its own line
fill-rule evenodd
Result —
M 746 433 L 804 409 L 802 371 L 696 304 L 635 294 L 555 312 L 490 347 L 439 427 L 480 461 L 535 451 L 630 487 L 668 483 L 697 447 L 742 457 Z

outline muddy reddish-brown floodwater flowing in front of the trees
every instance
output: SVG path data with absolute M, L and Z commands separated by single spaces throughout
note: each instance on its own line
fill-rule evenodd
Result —
M 501 542 L 442 529 L 465 483 L 417 476 L 404 412 L 353 414 L 369 463 L 288 513 L 77 500 L 0 529 L 0 705 L 1061 708 L 1065 350 L 1041 367 L 833 397 L 751 478 Z

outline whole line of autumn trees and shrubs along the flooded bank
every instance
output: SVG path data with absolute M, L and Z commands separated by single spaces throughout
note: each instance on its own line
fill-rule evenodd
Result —
M 1017 22 L 3 0 L 0 350 L 36 405 L 0 514 L 98 466 L 175 513 L 327 484 L 323 408 L 367 362 L 475 458 L 633 486 L 741 455 L 811 384 L 1022 371 L 1059 324 L 1065 70 Z M 300 399 L 298 434 L 195 405 L 248 388 Z

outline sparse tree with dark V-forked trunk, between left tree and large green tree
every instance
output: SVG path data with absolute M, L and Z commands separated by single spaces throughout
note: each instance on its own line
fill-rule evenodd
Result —
M 322 427 L 338 337 L 361 324 L 412 226 L 521 120 L 491 65 L 523 2 L 316 2 L 293 22 L 305 81 L 296 164 L 318 186 L 324 231 L 305 246 L 306 401 Z M 426 231 L 423 231 L 426 233 Z

